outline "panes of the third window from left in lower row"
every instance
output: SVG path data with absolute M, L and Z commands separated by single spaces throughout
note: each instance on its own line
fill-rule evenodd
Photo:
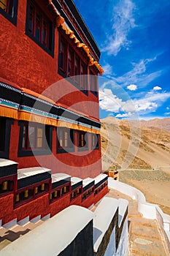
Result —
M 73 129 L 58 127 L 57 129 L 57 150 L 58 153 L 74 151 Z

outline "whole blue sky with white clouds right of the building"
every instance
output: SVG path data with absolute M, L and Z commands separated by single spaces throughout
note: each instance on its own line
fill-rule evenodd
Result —
M 170 116 L 170 2 L 74 0 L 101 50 L 100 116 Z

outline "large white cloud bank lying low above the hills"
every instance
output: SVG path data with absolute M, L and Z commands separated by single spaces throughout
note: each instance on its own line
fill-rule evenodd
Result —
M 123 101 L 123 99 L 113 94 L 111 89 L 103 89 L 99 91 L 99 96 L 102 110 L 114 113 L 120 113 L 121 111 L 125 113 L 151 113 L 170 98 L 170 92 L 145 94 L 141 99 Z

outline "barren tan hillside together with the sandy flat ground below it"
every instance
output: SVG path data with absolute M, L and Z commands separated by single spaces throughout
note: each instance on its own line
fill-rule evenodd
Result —
M 170 132 L 164 122 L 108 117 L 101 120 L 103 170 L 119 168 L 120 181 L 141 190 L 147 201 L 170 215 Z M 170 118 L 169 118 L 170 122 Z M 154 127 L 155 125 L 155 127 Z

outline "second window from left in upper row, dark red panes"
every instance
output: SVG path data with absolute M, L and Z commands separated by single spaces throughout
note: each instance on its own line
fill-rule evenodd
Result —
M 34 1 L 28 1 L 26 33 L 43 48 L 53 50 L 53 23 Z

